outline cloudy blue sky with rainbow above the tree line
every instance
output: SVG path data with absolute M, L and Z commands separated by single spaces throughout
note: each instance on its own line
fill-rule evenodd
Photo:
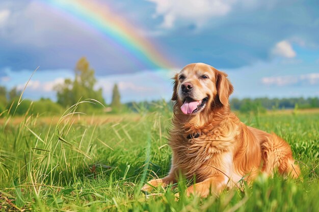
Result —
M 232 97 L 318 97 L 319 2 L 0 1 L 1 85 L 23 89 L 39 67 L 24 98 L 56 100 L 82 56 L 108 103 L 114 83 L 122 102 L 168 100 L 196 62 L 226 72 Z

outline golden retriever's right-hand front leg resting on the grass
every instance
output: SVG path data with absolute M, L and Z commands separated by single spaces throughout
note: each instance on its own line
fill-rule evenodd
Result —
M 209 193 L 219 195 L 227 186 L 228 177 L 223 174 L 216 174 L 210 176 L 208 179 L 201 181 L 193 186 L 187 188 L 186 195 L 190 194 L 200 195 L 207 197 Z

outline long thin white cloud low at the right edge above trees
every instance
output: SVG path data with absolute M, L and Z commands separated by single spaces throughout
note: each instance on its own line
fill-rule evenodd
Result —
M 261 79 L 263 84 L 266 85 L 294 85 L 294 84 L 307 84 L 317 85 L 319 84 L 319 73 L 309 73 L 302 75 L 286 75 L 277 77 L 263 77 Z

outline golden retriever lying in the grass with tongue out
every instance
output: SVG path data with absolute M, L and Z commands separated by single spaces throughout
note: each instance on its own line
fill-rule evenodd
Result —
M 242 179 L 250 182 L 260 172 L 299 176 L 299 166 L 283 139 L 246 126 L 230 111 L 233 86 L 227 74 L 196 63 L 185 66 L 174 80 L 171 170 L 162 179 L 148 181 L 143 191 L 176 183 L 180 173 L 196 178 L 186 194 L 203 197 L 238 187 Z

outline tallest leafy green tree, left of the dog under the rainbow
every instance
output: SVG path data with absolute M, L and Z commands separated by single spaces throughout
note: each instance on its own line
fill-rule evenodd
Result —
M 58 103 L 64 107 L 69 107 L 79 100 L 94 99 L 105 105 L 102 89 L 94 89 L 96 84 L 94 73 L 95 71 L 90 67 L 86 57 L 80 58 L 74 69 L 74 81 L 65 79 L 63 84 L 55 87 Z M 86 112 L 101 108 L 100 104 L 80 104 L 78 106 L 78 109 Z

